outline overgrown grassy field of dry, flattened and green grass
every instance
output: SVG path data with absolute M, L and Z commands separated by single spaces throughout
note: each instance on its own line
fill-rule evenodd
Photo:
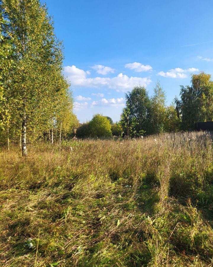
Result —
M 0 266 L 213 266 L 212 138 L 1 150 Z

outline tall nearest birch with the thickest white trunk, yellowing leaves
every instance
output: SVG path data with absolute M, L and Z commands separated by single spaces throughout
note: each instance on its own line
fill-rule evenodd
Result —
M 38 0 L 1 0 L 0 8 L 7 19 L 4 36 L 13 37 L 14 47 L 7 98 L 18 114 L 22 156 L 26 156 L 28 135 L 43 130 L 52 98 L 60 91 L 52 86 L 52 78 L 62 71 L 62 47 L 46 7 Z

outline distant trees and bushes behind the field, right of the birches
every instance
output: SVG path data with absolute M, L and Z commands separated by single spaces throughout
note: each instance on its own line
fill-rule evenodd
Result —
M 144 86 L 135 86 L 125 94 L 126 106 L 121 119 L 96 114 L 77 130 L 78 137 L 138 137 L 163 132 L 192 131 L 196 123 L 213 120 L 213 82 L 204 72 L 191 76 L 191 86 L 180 86 L 180 99 L 167 106 L 166 94 L 157 82 L 153 96 Z M 107 122 L 108 120 L 108 122 Z

